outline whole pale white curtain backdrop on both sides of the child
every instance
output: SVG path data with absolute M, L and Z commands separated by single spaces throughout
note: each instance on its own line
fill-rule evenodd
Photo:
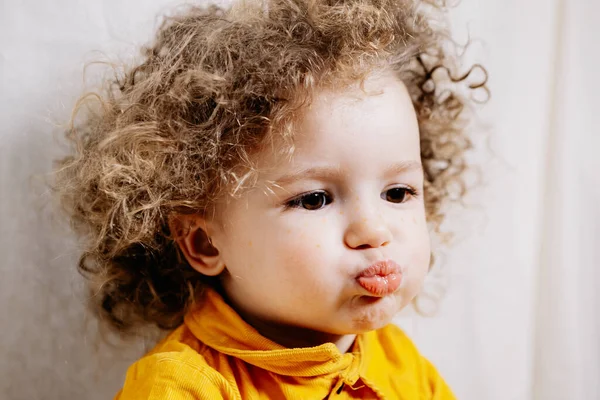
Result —
M 130 58 L 179 3 L 0 3 L 3 399 L 111 398 L 141 351 L 97 343 L 77 248 L 41 183 L 92 50 Z M 452 11 L 458 41 L 473 40 L 465 58 L 490 75 L 490 127 L 472 155 L 484 183 L 451 213 L 437 315 L 398 323 L 460 399 L 600 399 L 599 15 L 590 0 Z

